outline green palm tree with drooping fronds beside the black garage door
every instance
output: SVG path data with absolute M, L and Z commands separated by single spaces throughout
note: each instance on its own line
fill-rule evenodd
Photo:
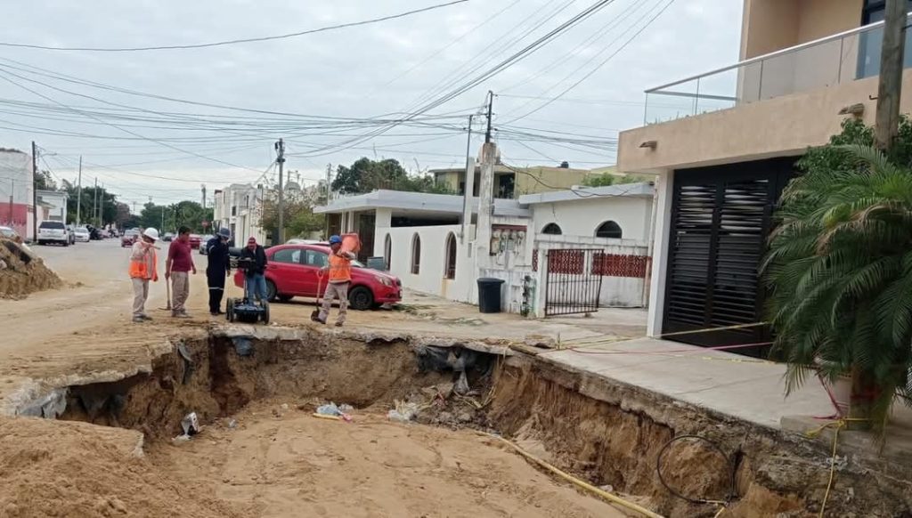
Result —
M 869 146 L 834 146 L 782 193 L 762 272 L 787 390 L 851 376 L 850 418 L 878 430 L 912 404 L 912 170 Z

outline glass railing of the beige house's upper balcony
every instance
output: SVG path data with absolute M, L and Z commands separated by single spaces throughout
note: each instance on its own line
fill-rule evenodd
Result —
M 876 76 L 883 37 L 884 22 L 877 22 L 650 88 L 644 123 L 692 117 Z M 912 67 L 909 32 L 906 67 Z

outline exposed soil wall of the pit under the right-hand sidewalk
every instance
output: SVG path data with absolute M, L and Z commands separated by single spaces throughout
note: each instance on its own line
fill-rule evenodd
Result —
M 829 478 L 823 445 L 714 415 L 636 387 L 559 368 L 547 360 L 513 357 L 496 384 L 489 417 L 516 440 L 540 443 L 559 467 L 618 492 L 645 497 L 673 517 L 713 516 L 718 507 L 672 496 L 658 481 L 659 451 L 666 482 L 691 498 L 725 500 L 731 466 L 736 494 L 726 516 L 816 515 Z M 729 463 L 731 461 L 731 463 Z M 912 516 L 910 466 L 852 456 L 839 465 L 828 516 Z

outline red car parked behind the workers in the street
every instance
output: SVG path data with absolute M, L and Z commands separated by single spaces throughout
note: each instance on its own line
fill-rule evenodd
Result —
M 269 300 L 287 302 L 295 296 L 316 298 L 326 291 L 326 275 L 320 269 L 329 259 L 329 247 L 319 244 L 282 244 L 266 250 L 266 290 Z M 234 285 L 244 287 L 244 273 L 234 274 Z M 319 290 L 319 294 L 317 294 Z M 370 309 L 402 300 L 399 278 L 352 261 L 348 304 L 352 309 Z

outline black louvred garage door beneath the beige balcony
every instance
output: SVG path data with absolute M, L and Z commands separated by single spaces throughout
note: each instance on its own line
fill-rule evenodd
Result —
M 794 158 L 675 171 L 663 334 L 762 320 L 757 268 Z M 716 347 L 769 340 L 765 326 L 671 335 Z M 764 356 L 768 347 L 733 350 Z

